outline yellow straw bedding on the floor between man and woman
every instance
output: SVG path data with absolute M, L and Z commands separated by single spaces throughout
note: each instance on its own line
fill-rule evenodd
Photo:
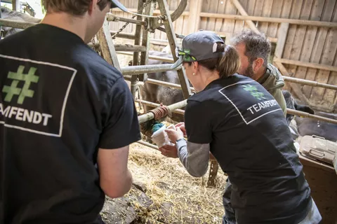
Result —
M 206 188 L 209 173 L 194 178 L 179 159 L 140 144 L 131 146 L 129 169 L 145 191 L 133 187 L 121 199 L 107 199 L 103 220 L 107 223 L 221 223 L 226 176 L 218 172 L 215 188 Z M 145 189 L 144 189 L 145 188 Z M 121 202 L 121 203 L 119 203 Z M 124 204 L 123 204 L 124 203 Z M 114 209 L 107 209 L 113 207 Z M 122 221 L 114 216 L 119 209 Z

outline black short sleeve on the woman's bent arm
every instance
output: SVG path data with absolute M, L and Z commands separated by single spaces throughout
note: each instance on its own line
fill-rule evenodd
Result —
M 189 100 L 185 109 L 185 129 L 187 140 L 196 144 L 209 144 L 212 141 L 211 116 L 207 107 L 200 102 Z

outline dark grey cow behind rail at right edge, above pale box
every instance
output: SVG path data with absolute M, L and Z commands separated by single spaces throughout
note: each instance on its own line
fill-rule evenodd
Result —
M 316 112 L 317 116 L 322 116 L 324 118 L 331 118 L 337 120 L 336 113 L 325 113 L 321 111 Z M 314 120 L 312 118 L 300 118 L 295 117 L 298 133 L 301 136 L 305 135 L 317 135 L 319 137 L 324 137 L 324 139 L 329 141 L 337 141 L 337 125 L 332 123 L 327 123 L 321 120 Z

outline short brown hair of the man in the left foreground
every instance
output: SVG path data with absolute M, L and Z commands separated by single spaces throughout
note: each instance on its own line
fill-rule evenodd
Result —
M 90 3 L 93 0 L 42 0 L 42 4 L 47 13 L 64 12 L 73 15 L 84 15 L 89 9 Z M 97 5 L 100 10 L 107 7 L 109 0 L 100 0 Z

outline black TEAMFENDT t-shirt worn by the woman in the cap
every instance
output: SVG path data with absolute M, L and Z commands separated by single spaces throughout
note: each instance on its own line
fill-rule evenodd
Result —
M 232 183 L 237 222 L 298 223 L 311 207 L 282 109 L 256 81 L 235 74 L 188 99 L 188 141 L 210 144 Z

